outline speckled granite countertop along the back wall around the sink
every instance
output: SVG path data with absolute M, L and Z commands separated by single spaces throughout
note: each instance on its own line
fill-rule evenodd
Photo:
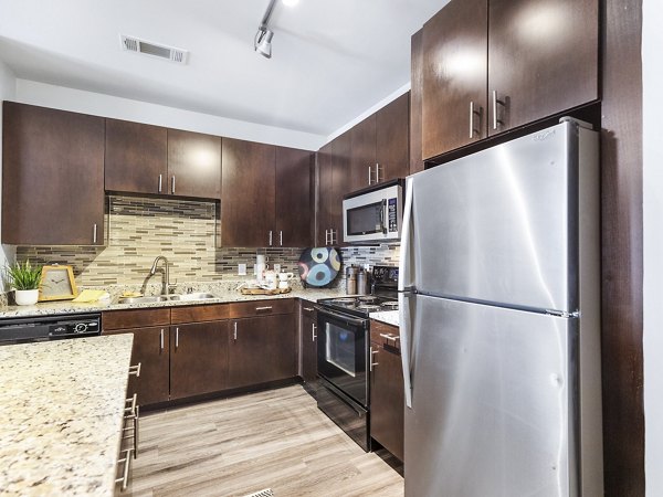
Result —
M 218 297 L 214 299 L 207 300 L 168 300 L 150 304 L 117 304 L 117 297 L 119 296 L 119 294 L 115 292 L 112 293 L 112 299 L 107 304 L 75 304 L 70 300 L 56 303 L 40 303 L 34 306 L 6 306 L 0 308 L 0 318 L 45 316 L 71 313 L 95 313 L 101 310 L 139 309 L 150 307 L 176 307 L 190 306 L 196 304 L 222 304 L 231 302 L 265 300 L 273 298 L 302 298 L 309 302 L 316 302 L 320 298 L 340 297 L 345 295 L 345 290 L 340 288 L 296 288 L 288 294 L 282 295 L 242 295 L 238 289 L 235 289 L 236 286 L 236 282 L 220 282 L 218 284 L 204 284 L 193 286 L 194 292 L 207 292 Z M 178 288 L 176 292 L 183 293 L 186 292 L 186 289 Z

